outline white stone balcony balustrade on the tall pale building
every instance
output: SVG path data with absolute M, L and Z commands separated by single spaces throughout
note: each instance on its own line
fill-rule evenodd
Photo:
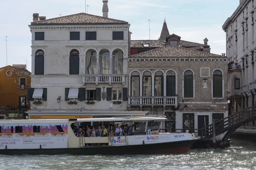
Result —
M 126 82 L 126 75 L 124 74 L 101 74 L 101 75 L 93 75 L 93 74 L 84 74 L 82 75 L 82 83 L 95 83 L 98 85 L 99 83 L 122 83 L 123 85 Z

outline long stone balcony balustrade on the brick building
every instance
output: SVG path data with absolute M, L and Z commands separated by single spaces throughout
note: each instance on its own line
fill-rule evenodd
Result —
M 129 96 L 129 106 L 177 106 L 177 96 Z

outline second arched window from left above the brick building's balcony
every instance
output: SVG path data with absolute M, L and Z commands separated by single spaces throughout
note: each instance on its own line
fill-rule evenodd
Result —
M 143 94 L 142 96 L 152 96 L 151 95 L 151 84 L 152 84 L 152 79 L 151 79 L 151 73 L 149 71 L 145 71 L 143 73 Z

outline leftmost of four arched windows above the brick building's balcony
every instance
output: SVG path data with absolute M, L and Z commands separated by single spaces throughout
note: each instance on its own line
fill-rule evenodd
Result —
M 131 96 L 140 96 L 140 73 L 138 71 L 131 73 Z

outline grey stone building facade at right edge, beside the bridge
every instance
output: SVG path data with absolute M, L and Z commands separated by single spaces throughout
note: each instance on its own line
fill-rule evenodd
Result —
M 229 68 L 230 113 L 255 105 L 256 90 L 256 2 L 240 0 L 236 11 L 229 17 L 226 32 Z M 255 126 L 250 122 L 245 126 Z

